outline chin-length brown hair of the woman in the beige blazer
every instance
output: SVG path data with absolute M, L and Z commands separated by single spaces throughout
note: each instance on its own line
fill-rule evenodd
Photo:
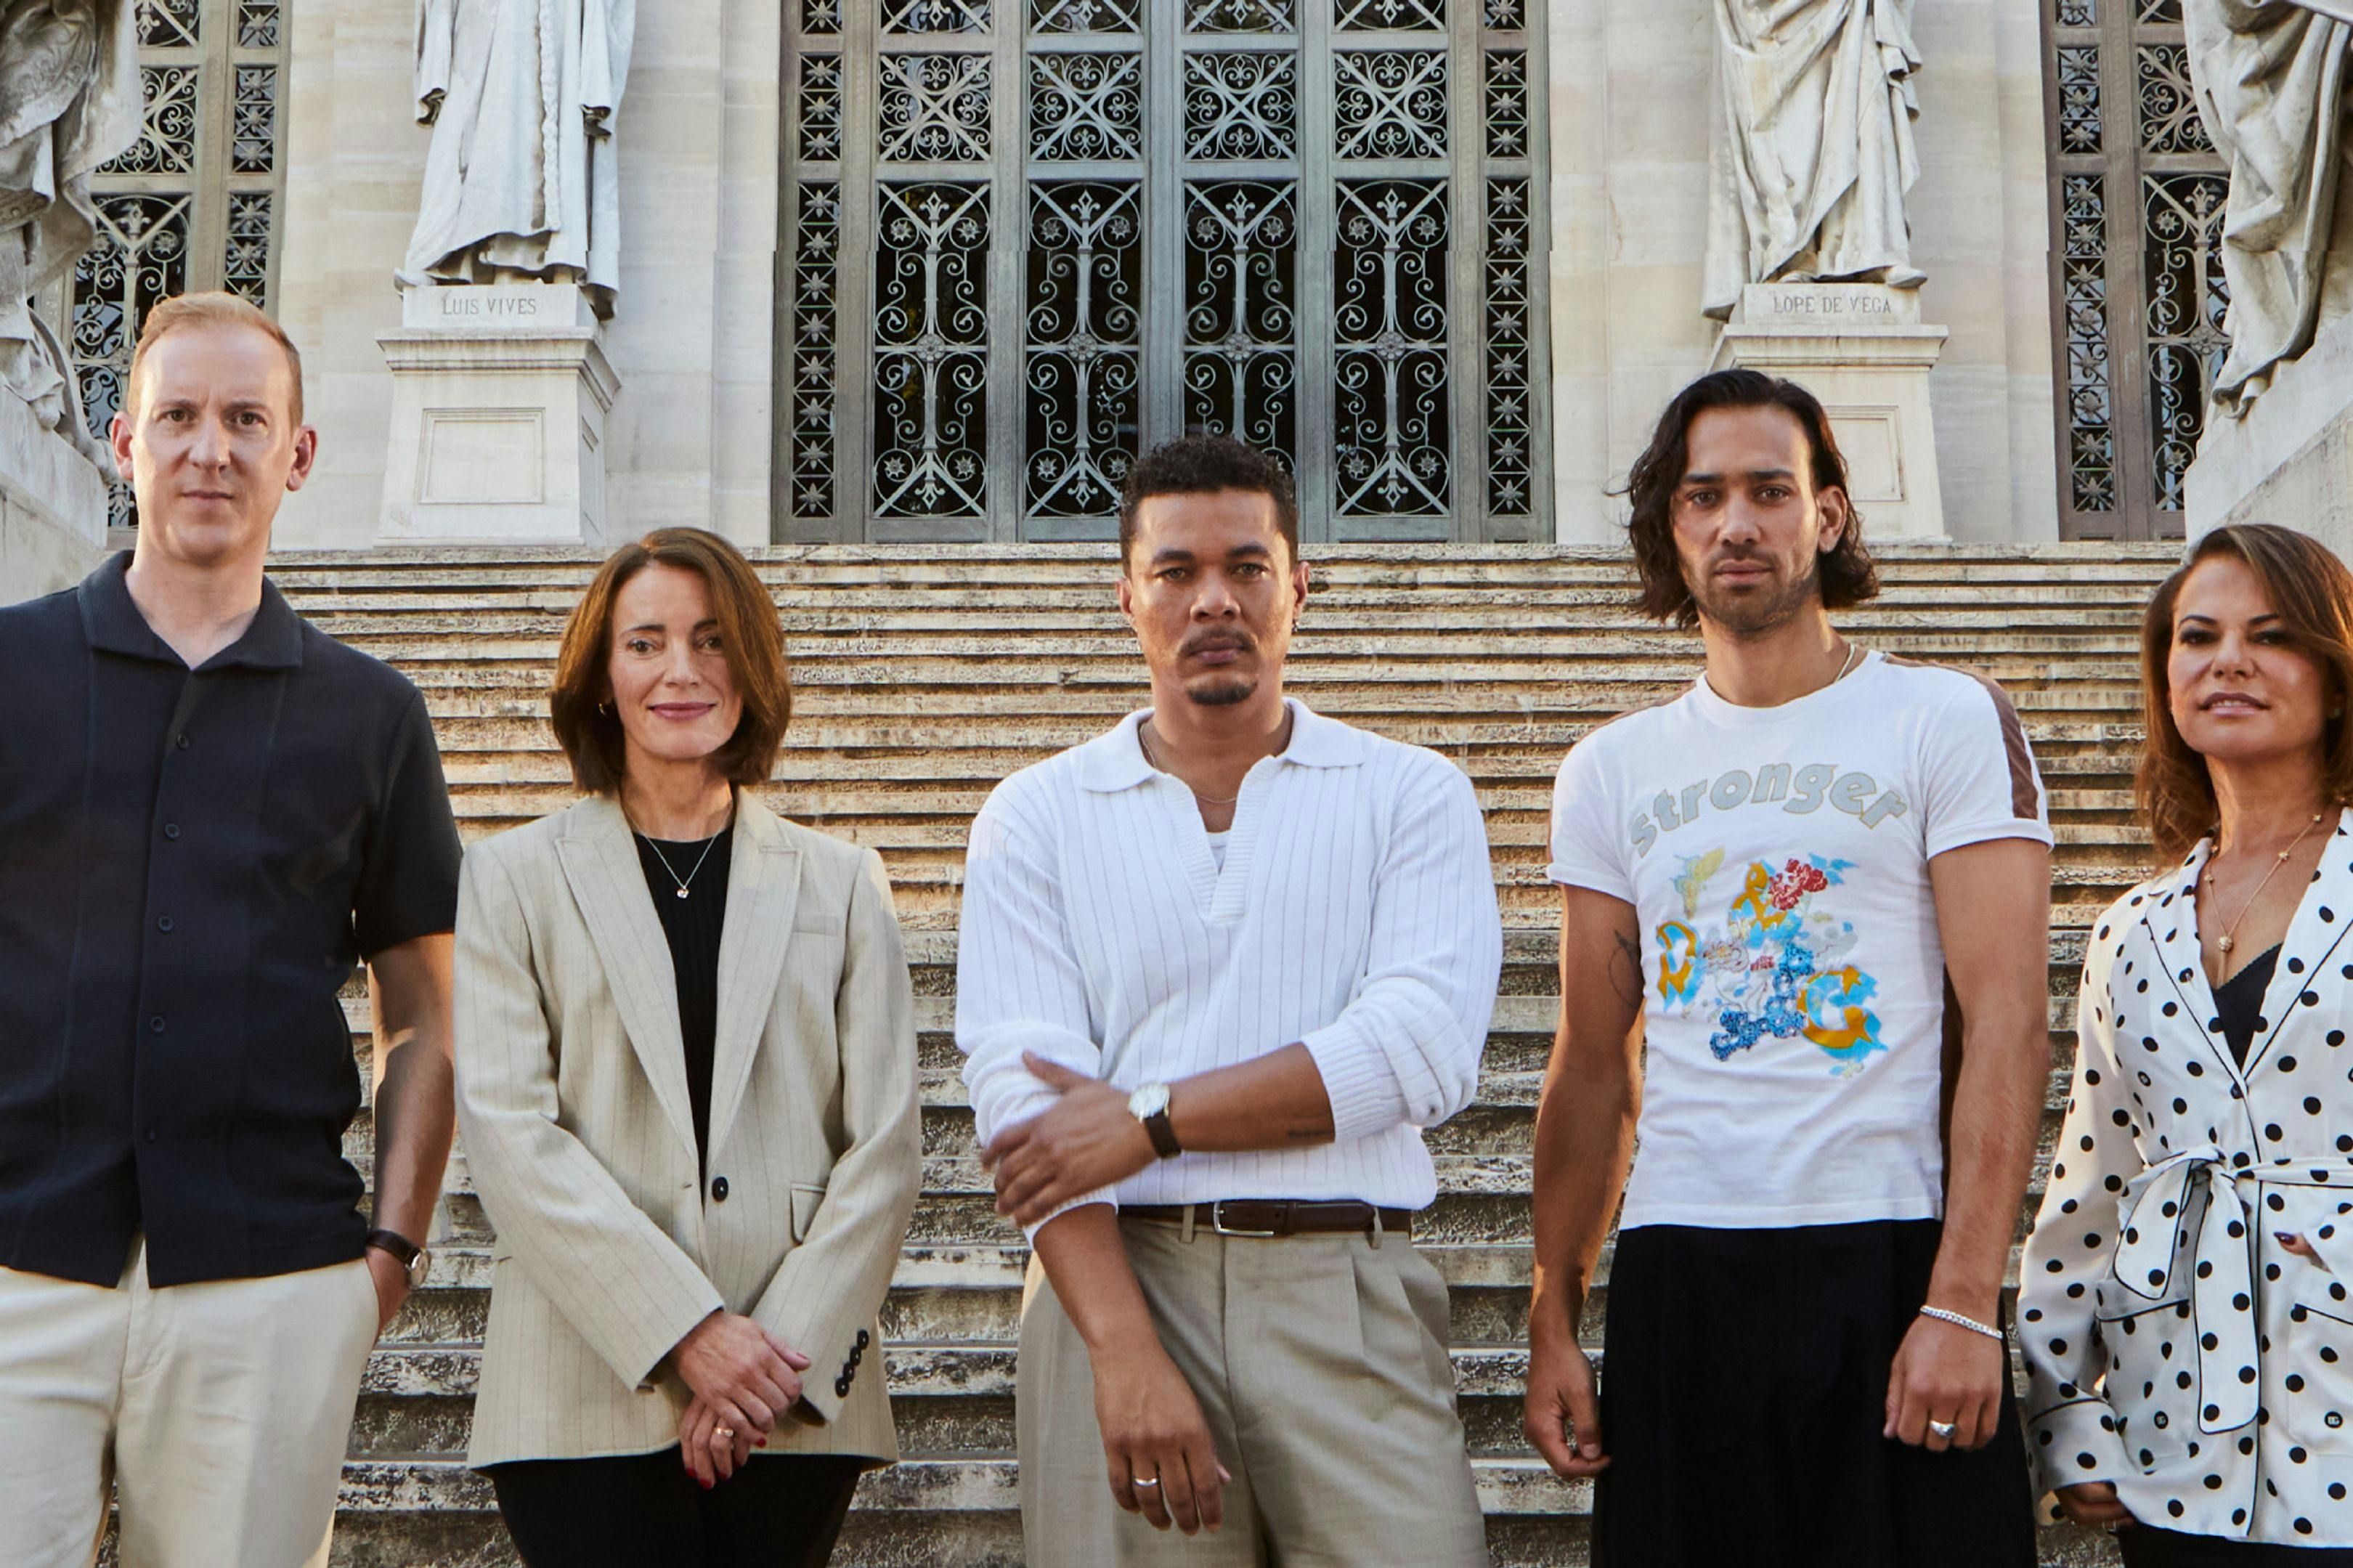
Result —
M 793 720 L 793 683 L 784 666 L 784 624 L 776 600 L 767 596 L 744 553 L 701 527 L 656 527 L 635 544 L 612 553 L 565 622 L 565 643 L 555 655 L 555 692 L 548 713 L 555 720 L 555 744 L 572 760 L 572 782 L 593 796 L 621 789 L 628 751 L 621 744 L 621 720 L 612 711 L 612 603 L 621 584 L 649 565 L 694 572 L 711 589 L 711 617 L 720 624 L 720 652 L 744 718 L 711 765 L 729 784 L 765 784 L 784 746 L 784 727 Z

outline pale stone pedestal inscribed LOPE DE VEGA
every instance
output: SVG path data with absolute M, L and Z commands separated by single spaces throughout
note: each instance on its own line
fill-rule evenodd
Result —
M 1920 325 L 1920 292 L 1878 283 L 1753 283 L 1708 370 L 1762 370 L 1821 398 L 1847 457 L 1864 539 L 1948 539 L 1927 372 L 1944 327 Z

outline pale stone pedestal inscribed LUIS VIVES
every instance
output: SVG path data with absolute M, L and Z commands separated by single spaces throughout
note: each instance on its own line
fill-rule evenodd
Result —
M 409 290 L 376 544 L 605 544 L 605 414 L 621 388 L 569 283 Z

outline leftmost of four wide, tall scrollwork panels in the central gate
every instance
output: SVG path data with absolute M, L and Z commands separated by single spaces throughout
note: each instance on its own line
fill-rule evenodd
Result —
M 988 516 L 988 186 L 875 191 L 873 506 Z

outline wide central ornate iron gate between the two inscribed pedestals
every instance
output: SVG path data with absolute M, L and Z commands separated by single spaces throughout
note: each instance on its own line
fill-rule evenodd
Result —
M 779 539 L 1096 539 L 1226 431 L 1548 539 L 1532 0 L 793 0 Z

